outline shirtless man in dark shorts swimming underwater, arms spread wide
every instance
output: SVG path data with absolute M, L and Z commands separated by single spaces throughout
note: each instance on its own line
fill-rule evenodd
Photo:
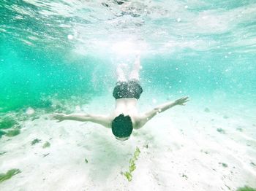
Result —
M 143 88 L 139 84 L 140 57 L 137 56 L 132 72 L 127 81 L 120 64 L 116 70 L 117 82 L 113 90 L 113 97 L 116 98 L 116 108 L 109 115 L 102 114 L 58 114 L 54 113 L 50 117 L 61 122 L 63 120 L 89 121 L 95 122 L 106 128 L 111 128 L 113 135 L 120 141 L 129 139 L 133 129 L 142 128 L 156 114 L 165 112 L 173 106 L 184 106 L 188 97 L 179 98 L 176 101 L 169 101 L 156 106 L 148 112 L 139 114 L 137 109 L 138 99 Z

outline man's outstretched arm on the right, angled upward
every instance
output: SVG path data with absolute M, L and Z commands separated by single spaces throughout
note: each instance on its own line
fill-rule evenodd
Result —
M 148 122 L 148 120 L 151 120 L 154 116 L 156 116 L 156 114 L 165 112 L 167 109 L 172 108 L 173 106 L 184 106 L 185 103 L 189 101 L 189 97 L 183 97 L 183 98 L 179 98 L 176 101 L 169 101 L 165 104 L 156 106 L 154 109 L 151 109 L 150 111 L 144 113 L 141 115 L 141 117 L 138 119 L 138 128 L 142 128 L 143 125 L 146 124 L 146 122 Z

